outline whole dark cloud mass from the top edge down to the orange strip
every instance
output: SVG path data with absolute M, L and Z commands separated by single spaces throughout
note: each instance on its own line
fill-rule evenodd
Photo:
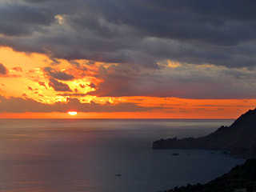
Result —
M 48 54 L 53 68 L 58 58 L 70 60 L 80 70 L 86 65 L 75 59 L 118 63 L 114 73 L 101 69 L 95 74 L 102 82 L 90 94 L 255 98 L 254 1 L 10 0 L 0 6 L 2 46 Z M 187 66 L 162 70 L 161 63 L 168 59 L 227 70 L 214 68 L 214 77 L 208 70 Z M 242 71 L 245 68 L 251 73 Z M 74 79 L 65 72 L 46 72 L 55 88 L 62 83 L 56 79 Z M 60 87 L 70 90 L 67 85 Z

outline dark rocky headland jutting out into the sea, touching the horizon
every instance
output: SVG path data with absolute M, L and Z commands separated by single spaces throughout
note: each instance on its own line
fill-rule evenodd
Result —
M 242 114 L 231 126 L 221 126 L 202 138 L 169 138 L 153 143 L 153 149 L 225 150 L 236 158 L 256 157 L 256 109 Z

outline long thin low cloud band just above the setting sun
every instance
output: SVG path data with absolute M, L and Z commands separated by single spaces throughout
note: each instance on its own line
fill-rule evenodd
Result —
M 24 95 L 26 97 L 26 95 Z M 138 106 L 135 103 L 119 103 L 112 105 L 100 105 L 95 102 L 81 103 L 77 98 L 68 98 L 68 102 L 55 102 L 53 105 L 43 104 L 31 98 L 5 98 L 0 96 L 0 112 L 7 113 L 24 113 L 38 112 L 50 113 L 60 112 L 66 113 L 69 110 L 77 110 L 78 112 L 142 112 L 150 110 L 159 110 L 162 107 L 144 107 Z

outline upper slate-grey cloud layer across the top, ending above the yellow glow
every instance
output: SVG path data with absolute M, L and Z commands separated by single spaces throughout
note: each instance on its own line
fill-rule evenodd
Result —
M 166 58 L 255 66 L 254 1 L 10 2 L 1 7 L 0 43 L 16 50 L 150 68 Z

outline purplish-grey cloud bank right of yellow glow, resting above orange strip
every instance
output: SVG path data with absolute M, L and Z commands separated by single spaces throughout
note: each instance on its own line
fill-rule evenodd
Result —
M 135 74 L 126 66 L 99 71 L 104 79 L 87 94 L 98 97 L 151 96 L 177 98 L 255 98 L 256 74 L 251 70 L 194 65 L 163 68 L 158 73 Z

